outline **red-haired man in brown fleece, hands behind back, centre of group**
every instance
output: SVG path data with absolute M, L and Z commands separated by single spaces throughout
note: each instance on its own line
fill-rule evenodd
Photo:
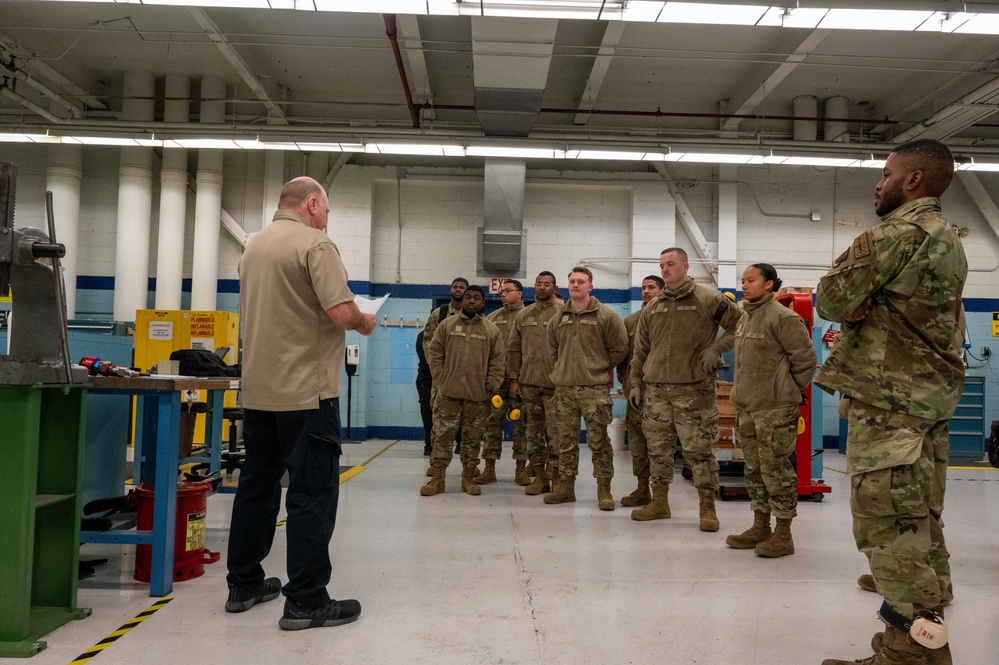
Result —
M 607 436 L 611 421 L 609 372 L 628 355 L 628 333 L 621 317 L 590 295 L 593 273 L 573 268 L 569 302 L 548 326 L 554 367 L 555 414 L 558 420 L 558 479 L 545 503 L 576 500 L 579 472 L 579 418 L 586 422 L 586 445 L 593 452 L 600 510 L 614 510 L 610 493 L 614 451 Z

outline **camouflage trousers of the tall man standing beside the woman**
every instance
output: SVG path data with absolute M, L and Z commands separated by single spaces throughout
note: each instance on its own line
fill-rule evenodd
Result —
M 646 383 L 642 430 L 649 444 L 653 484 L 673 482 L 677 439 L 698 488 L 718 487 L 718 397 L 714 379 L 697 383 Z

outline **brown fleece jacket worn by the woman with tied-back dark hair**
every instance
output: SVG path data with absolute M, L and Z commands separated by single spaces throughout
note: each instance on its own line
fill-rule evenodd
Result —
M 768 294 L 742 302 L 735 327 L 732 404 L 741 411 L 794 406 L 815 374 L 815 348 L 804 319 Z

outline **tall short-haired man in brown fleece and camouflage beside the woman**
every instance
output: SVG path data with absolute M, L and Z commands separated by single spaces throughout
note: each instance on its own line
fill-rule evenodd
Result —
M 694 472 L 701 531 L 717 531 L 715 491 L 718 462 L 718 395 L 715 368 L 732 348 L 742 312 L 715 289 L 687 276 L 687 252 L 664 249 L 659 268 L 666 288 L 642 309 L 631 359 L 628 401 L 642 409 L 649 441 L 652 503 L 631 512 L 634 520 L 669 519 L 669 485 L 679 438 L 683 457 Z M 718 327 L 726 334 L 718 338 Z

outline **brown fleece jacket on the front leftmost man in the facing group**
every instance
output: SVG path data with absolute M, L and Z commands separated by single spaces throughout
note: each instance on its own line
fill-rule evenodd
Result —
M 434 388 L 454 399 L 489 399 L 503 383 L 505 360 L 503 335 L 481 314 L 447 317 L 427 349 Z

